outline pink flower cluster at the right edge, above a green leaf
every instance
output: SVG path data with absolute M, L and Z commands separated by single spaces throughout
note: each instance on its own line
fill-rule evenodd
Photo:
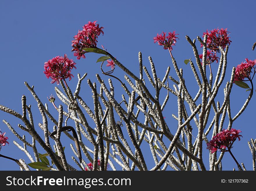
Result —
M 250 80 L 253 79 L 254 74 L 256 72 L 256 60 L 248 60 L 248 58 L 246 58 L 245 60 L 245 62 L 242 62 L 241 64 L 237 65 L 234 81 L 243 81 L 244 78 L 248 78 Z M 254 69 L 254 72 L 252 72 L 252 69 Z M 251 73 L 253 73 L 252 77 Z

